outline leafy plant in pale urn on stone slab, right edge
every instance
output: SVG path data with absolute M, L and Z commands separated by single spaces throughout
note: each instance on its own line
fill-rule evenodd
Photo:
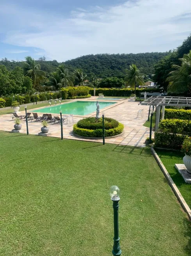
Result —
M 182 152 L 185 153 L 183 157 L 183 163 L 186 166 L 186 169 L 191 173 L 191 137 L 186 136 L 182 144 Z

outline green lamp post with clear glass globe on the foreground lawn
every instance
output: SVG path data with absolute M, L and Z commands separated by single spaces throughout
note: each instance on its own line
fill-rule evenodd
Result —
M 118 219 L 120 189 L 117 186 L 112 186 L 110 188 L 109 194 L 113 202 L 114 243 L 113 243 L 112 254 L 121 255 L 120 238 L 119 238 L 119 219 Z

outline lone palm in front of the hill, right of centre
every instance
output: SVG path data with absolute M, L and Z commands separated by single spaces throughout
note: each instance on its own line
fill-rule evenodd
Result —
M 127 74 L 124 78 L 125 82 L 130 85 L 130 87 L 135 88 L 136 94 L 136 85 L 144 85 L 144 76 L 145 74 L 141 73 L 141 71 L 137 68 L 135 64 L 129 66 L 130 69 L 127 69 Z

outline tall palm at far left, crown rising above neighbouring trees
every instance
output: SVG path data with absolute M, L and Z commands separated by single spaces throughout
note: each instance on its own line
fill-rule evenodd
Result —
M 45 79 L 45 72 L 42 71 L 39 64 L 31 56 L 25 57 L 26 62 L 23 62 L 24 75 L 32 79 L 34 88 L 40 81 Z

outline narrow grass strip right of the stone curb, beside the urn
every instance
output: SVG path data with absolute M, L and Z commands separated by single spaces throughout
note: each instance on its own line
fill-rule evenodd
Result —
M 184 179 L 175 168 L 175 163 L 183 163 L 182 158 L 184 154 L 180 151 L 168 151 L 161 149 L 155 150 L 161 158 L 162 163 L 164 163 L 164 166 L 169 172 L 171 178 L 173 179 L 173 182 L 177 185 L 180 193 L 191 208 L 191 184 L 185 183 Z

